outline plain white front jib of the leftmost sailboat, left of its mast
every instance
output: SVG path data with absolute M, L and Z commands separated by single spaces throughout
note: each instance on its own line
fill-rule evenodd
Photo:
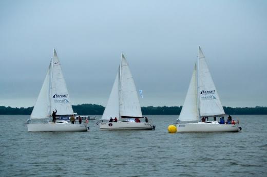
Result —
M 47 70 L 42 89 L 39 93 L 37 101 L 31 113 L 31 119 L 44 119 L 49 117 L 49 80 L 50 80 L 50 66 Z

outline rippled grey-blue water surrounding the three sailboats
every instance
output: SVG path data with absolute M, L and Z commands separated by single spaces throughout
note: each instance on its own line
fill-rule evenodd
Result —
M 267 176 L 267 116 L 238 117 L 239 133 L 28 132 L 29 116 L 0 116 L 0 176 Z M 99 116 L 100 117 L 100 116 Z

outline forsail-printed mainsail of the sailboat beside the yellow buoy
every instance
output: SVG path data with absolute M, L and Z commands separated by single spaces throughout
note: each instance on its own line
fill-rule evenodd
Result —
M 223 115 L 216 87 L 209 73 L 205 56 L 199 47 L 199 109 L 201 116 Z

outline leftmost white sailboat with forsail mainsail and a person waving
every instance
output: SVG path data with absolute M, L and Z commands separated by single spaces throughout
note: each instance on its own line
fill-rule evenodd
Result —
M 58 120 L 55 123 L 50 122 L 54 110 L 56 110 L 57 117 L 73 115 L 69 93 L 55 49 L 42 89 L 30 119 L 26 123 L 28 131 L 87 131 L 86 122 L 83 124 L 70 124 L 64 120 Z M 34 119 L 43 119 L 44 122 L 34 122 Z

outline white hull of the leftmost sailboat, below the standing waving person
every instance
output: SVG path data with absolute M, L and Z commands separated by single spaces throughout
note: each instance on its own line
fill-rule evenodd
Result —
M 28 131 L 87 131 L 87 124 L 28 123 Z

